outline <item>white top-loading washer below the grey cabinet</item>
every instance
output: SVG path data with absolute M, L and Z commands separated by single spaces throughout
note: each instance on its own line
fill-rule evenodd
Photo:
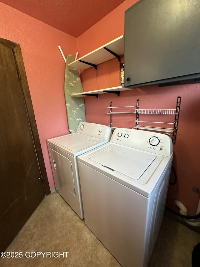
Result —
M 123 267 L 148 265 L 172 159 L 168 135 L 121 128 L 78 157 L 85 224 Z

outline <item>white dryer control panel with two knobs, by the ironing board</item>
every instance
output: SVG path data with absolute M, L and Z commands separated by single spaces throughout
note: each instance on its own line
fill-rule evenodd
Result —
M 76 132 L 103 140 L 109 140 L 112 136 L 110 127 L 91 122 L 80 122 Z

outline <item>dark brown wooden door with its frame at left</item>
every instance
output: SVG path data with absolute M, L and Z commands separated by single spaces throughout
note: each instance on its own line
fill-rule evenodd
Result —
M 0 39 L 0 251 L 45 197 L 17 46 Z

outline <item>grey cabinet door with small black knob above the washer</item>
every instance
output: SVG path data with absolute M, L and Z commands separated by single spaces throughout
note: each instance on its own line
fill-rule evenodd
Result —
M 140 0 L 126 10 L 125 87 L 199 78 L 199 13 L 190 0 Z

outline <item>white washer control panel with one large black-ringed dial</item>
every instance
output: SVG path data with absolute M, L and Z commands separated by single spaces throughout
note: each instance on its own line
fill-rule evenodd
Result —
M 168 157 L 173 153 L 171 137 L 161 133 L 117 128 L 113 132 L 110 141 Z

